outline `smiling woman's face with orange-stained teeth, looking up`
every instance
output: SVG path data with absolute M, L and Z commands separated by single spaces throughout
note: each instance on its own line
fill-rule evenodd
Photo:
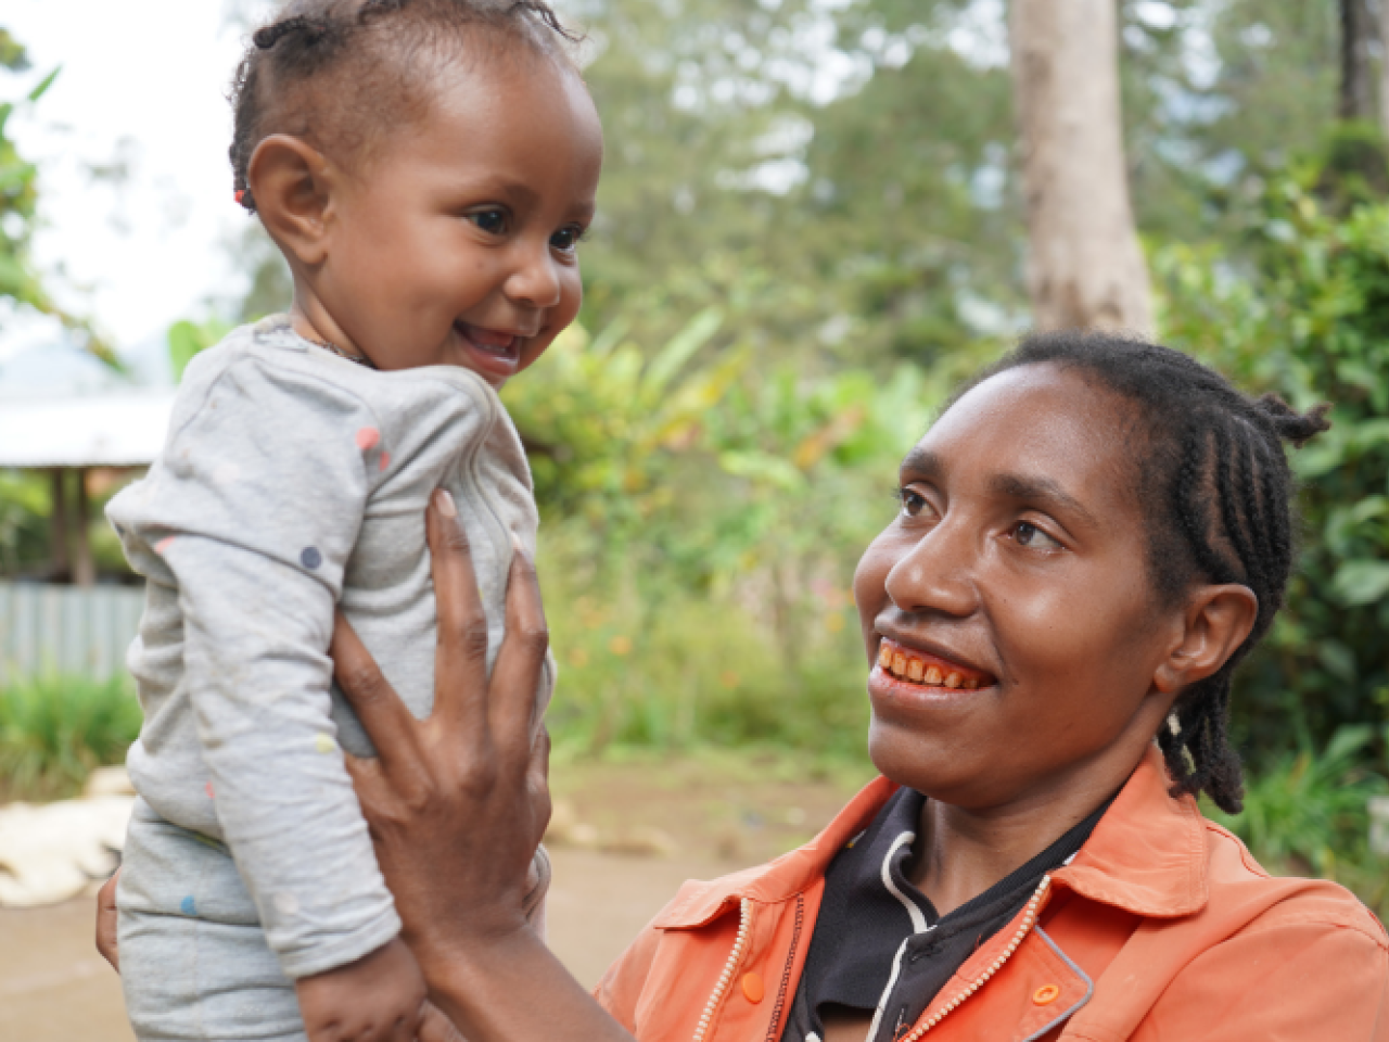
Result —
M 901 464 L 901 511 L 858 564 L 870 750 L 893 781 L 986 810 L 1078 775 L 1122 781 L 1172 696 L 1125 403 L 1026 365 L 965 395 Z M 899 677 L 900 674 L 900 677 Z

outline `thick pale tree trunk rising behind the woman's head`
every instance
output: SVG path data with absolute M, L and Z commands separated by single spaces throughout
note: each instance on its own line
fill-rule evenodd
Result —
M 1038 329 L 1150 335 L 1120 114 L 1114 0 L 1013 0 L 1013 82 Z

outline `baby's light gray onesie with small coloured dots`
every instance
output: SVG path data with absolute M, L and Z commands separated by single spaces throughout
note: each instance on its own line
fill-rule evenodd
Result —
M 399 932 L 343 766 L 342 749 L 371 745 L 326 650 L 340 606 L 429 711 L 424 517 L 439 486 L 472 547 L 490 663 L 511 536 L 533 552 L 538 518 L 515 428 L 468 370 L 378 372 L 282 315 L 243 326 L 189 365 L 161 458 L 111 500 L 147 579 L 118 891 L 140 1039 L 301 1039 L 292 979 Z

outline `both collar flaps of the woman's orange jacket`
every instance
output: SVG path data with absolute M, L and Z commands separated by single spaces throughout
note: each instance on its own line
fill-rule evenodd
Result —
M 829 861 L 863 832 L 897 791 L 875 778 L 810 843 L 754 868 L 686 886 L 653 925 L 692 929 L 743 899 L 775 904 L 824 879 Z M 1053 881 L 1081 896 L 1139 916 L 1172 918 L 1199 911 L 1208 899 L 1206 827 L 1190 796 L 1168 795 L 1163 754 L 1153 746 L 1114 797 L 1075 860 Z

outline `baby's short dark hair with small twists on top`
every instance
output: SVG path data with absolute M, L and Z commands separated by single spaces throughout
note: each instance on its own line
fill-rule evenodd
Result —
M 543 0 L 289 0 L 251 35 L 232 81 L 242 206 L 256 210 L 246 169 L 267 136 L 360 157 L 426 108 L 431 76 L 460 60 L 460 44 L 483 42 L 479 31 L 493 53 L 521 43 L 567 65 L 565 46 L 581 40 Z

